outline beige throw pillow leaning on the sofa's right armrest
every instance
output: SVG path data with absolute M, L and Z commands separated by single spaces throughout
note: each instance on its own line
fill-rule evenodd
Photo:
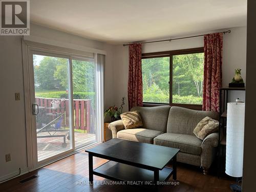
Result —
M 194 129 L 193 133 L 199 138 L 204 140 L 204 138 L 214 132 L 219 130 L 219 121 L 212 119 L 210 117 L 203 118 Z

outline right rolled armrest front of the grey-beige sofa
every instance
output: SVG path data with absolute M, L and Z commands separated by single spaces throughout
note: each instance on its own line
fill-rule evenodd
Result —
M 201 167 L 207 170 L 214 161 L 219 141 L 219 133 L 211 133 L 202 142 Z M 206 171 L 207 172 L 207 171 Z M 206 174 L 206 172 L 204 174 Z

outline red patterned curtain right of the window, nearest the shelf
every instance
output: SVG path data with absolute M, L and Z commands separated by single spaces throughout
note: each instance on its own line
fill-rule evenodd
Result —
M 223 33 L 204 35 L 203 110 L 219 112 Z

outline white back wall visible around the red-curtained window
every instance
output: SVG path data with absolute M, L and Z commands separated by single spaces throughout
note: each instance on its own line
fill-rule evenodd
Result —
M 245 80 L 246 68 L 246 27 L 231 28 L 231 33 L 225 34 L 223 38 L 223 87 L 228 87 L 228 83 L 234 75 L 234 69 L 242 69 L 242 77 Z M 218 32 L 224 30 L 210 31 Z M 193 35 L 193 34 L 190 34 Z M 188 35 L 188 36 L 190 36 Z M 172 42 L 156 42 L 152 44 L 142 44 L 142 53 L 170 51 L 188 48 L 203 47 L 203 37 L 174 40 Z M 115 49 L 115 98 L 118 100 L 122 96 L 127 98 L 127 82 L 129 71 L 128 46 L 116 46 Z M 243 92 L 233 92 L 230 94 L 230 101 L 239 97 L 245 99 Z M 126 100 L 127 101 L 127 100 Z M 125 110 L 128 107 L 126 105 Z

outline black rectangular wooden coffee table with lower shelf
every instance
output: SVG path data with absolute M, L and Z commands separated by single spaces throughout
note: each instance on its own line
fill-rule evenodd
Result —
M 93 175 L 114 181 L 167 181 L 177 179 L 177 148 L 111 139 L 89 148 L 89 181 Z M 93 156 L 110 161 L 93 170 Z M 173 161 L 173 167 L 165 167 Z

